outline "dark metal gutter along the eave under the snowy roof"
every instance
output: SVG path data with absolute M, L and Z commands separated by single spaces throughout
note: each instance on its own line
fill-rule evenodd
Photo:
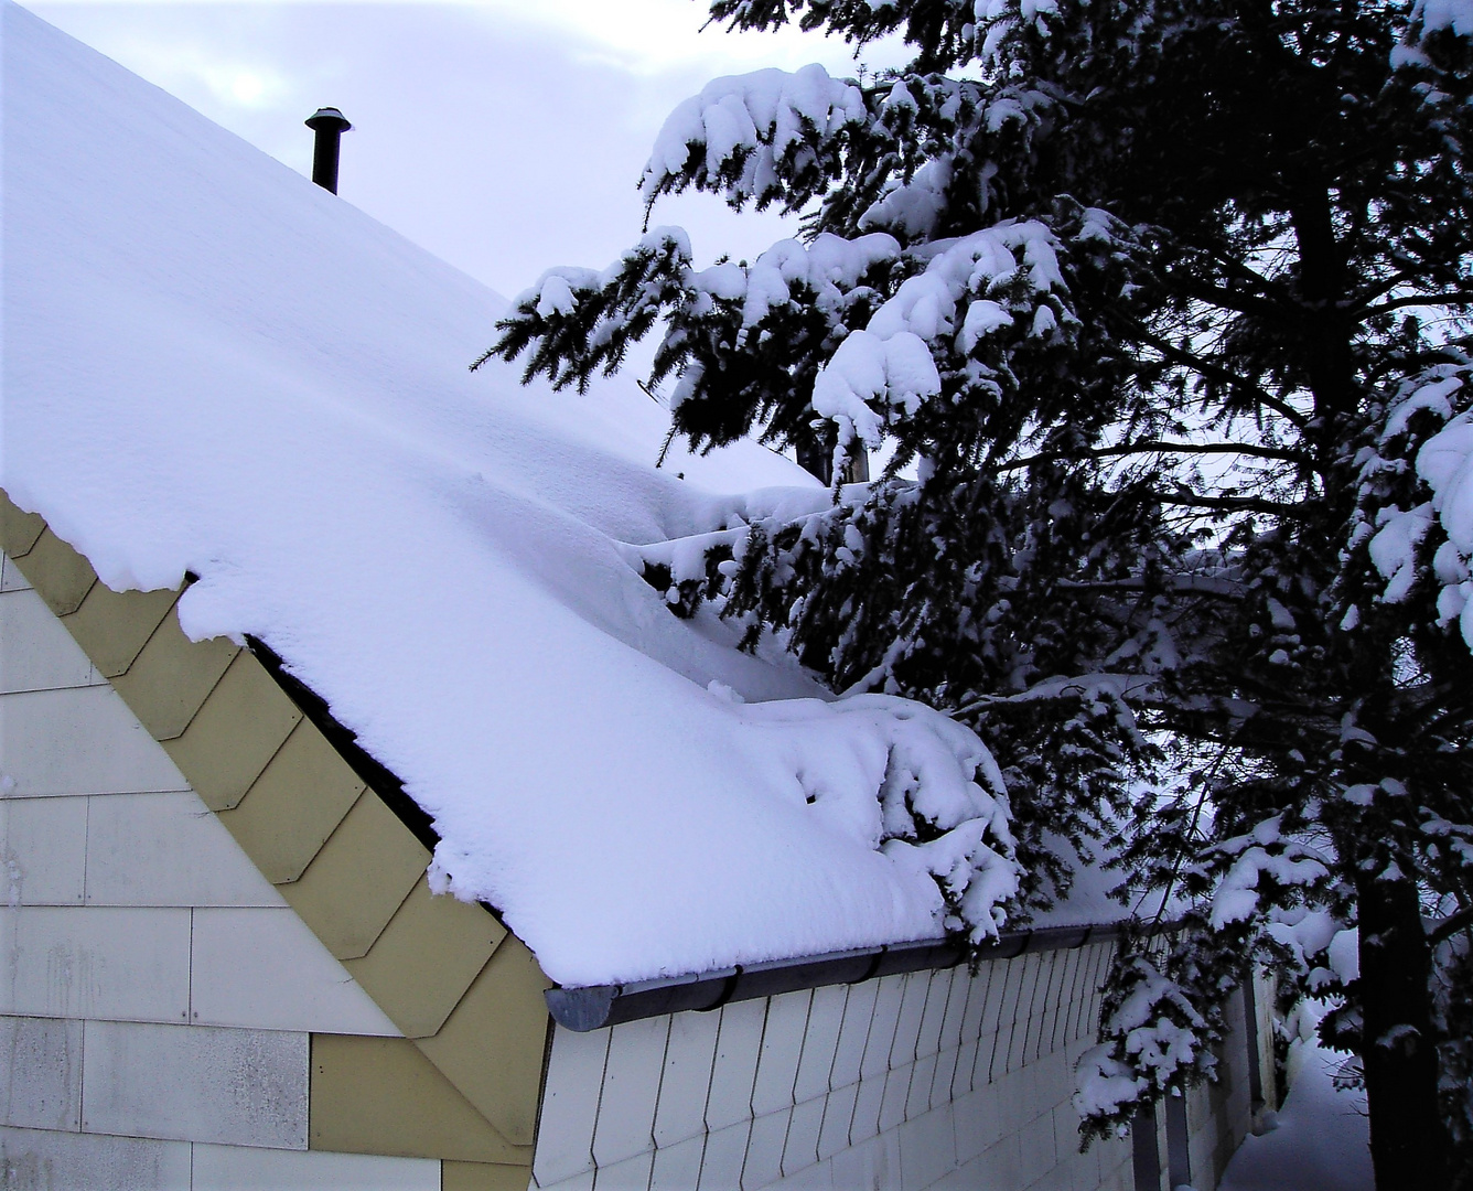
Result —
M 1005 930 L 996 943 L 984 948 L 981 960 L 1012 960 L 1027 951 L 1064 951 L 1089 942 L 1114 939 L 1124 923 L 1091 926 L 1053 926 L 1036 930 Z M 751 1001 L 781 992 L 857 985 L 876 976 L 956 967 L 966 960 L 966 948 L 944 939 L 921 939 L 828 955 L 772 960 L 764 964 L 738 964 L 694 976 L 639 980 L 630 985 L 589 985 L 573 989 L 548 989 L 544 996 L 552 1019 L 570 1030 L 586 1033 L 601 1026 L 617 1026 L 682 1010 L 710 1011 L 729 1001 Z

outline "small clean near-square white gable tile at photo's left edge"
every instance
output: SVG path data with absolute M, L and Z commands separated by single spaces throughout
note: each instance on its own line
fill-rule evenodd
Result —
M 87 873 L 87 799 L 0 799 L 0 853 L 12 905 L 80 905 Z

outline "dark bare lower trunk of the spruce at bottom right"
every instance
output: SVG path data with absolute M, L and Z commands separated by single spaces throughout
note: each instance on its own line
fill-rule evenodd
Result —
M 1416 884 L 1388 879 L 1388 856 L 1358 881 L 1365 1095 L 1376 1191 L 1446 1191 L 1448 1139 L 1438 1108 L 1432 952 Z

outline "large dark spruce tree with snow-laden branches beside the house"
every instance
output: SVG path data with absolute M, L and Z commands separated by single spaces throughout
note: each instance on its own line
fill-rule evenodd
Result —
M 697 447 L 757 433 L 835 475 L 885 453 L 829 507 L 647 575 L 837 690 L 977 727 L 1024 912 L 1062 892 L 1065 842 L 1170 902 L 1181 929 L 1111 977 L 1087 1132 L 1211 1076 L 1256 958 L 1337 1005 L 1377 1187 L 1466 1179 L 1473 0 L 711 13 L 899 31 L 915 60 L 711 83 L 645 199 L 806 234 L 695 270 L 655 228 L 548 273 L 492 352 L 582 385 L 660 326 L 653 382 Z

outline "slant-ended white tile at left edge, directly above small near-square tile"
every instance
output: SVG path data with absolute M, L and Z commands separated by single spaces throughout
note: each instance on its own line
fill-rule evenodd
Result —
M 15 797 L 187 789 L 112 687 L 0 694 L 0 772 Z

